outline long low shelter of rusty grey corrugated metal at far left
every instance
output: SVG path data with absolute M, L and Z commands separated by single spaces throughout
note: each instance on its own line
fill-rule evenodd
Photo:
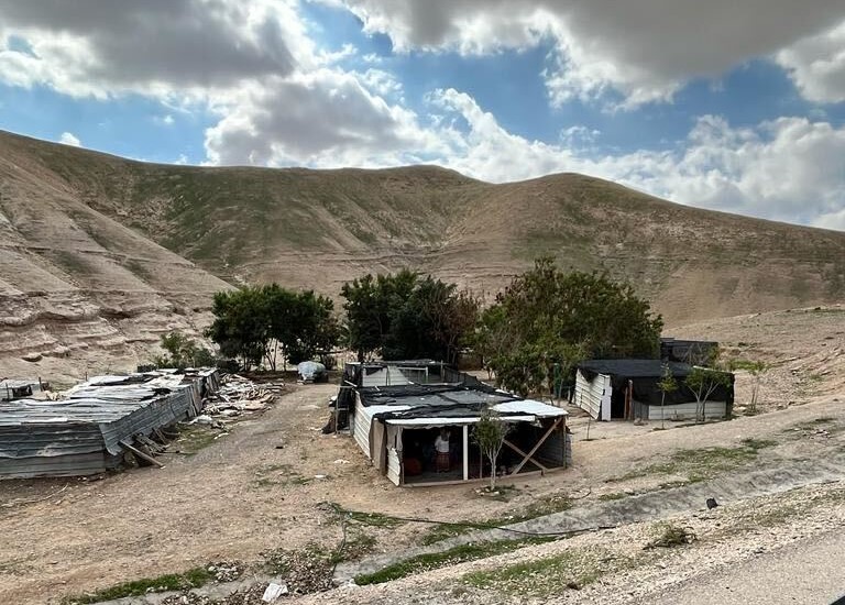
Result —
M 136 439 L 193 418 L 217 370 L 97 376 L 57 402 L 0 404 L 0 479 L 74 476 L 117 468 Z

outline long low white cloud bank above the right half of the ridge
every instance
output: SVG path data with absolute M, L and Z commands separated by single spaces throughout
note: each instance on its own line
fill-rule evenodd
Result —
M 438 91 L 431 102 L 467 125 L 465 132 L 441 127 L 441 139 L 451 144 L 439 162 L 484 180 L 577 172 L 682 204 L 775 220 L 839 229 L 845 218 L 845 127 L 781 118 L 736 129 L 705 116 L 679 151 L 596 156 L 589 139 L 564 136 L 550 145 L 514 135 L 453 89 Z

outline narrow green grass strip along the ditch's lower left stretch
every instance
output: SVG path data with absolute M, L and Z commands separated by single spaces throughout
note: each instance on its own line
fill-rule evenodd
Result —
M 475 542 L 461 544 L 442 552 L 431 552 L 418 554 L 383 568 L 373 573 L 364 573 L 355 576 L 355 584 L 363 586 L 366 584 L 381 584 L 392 582 L 399 578 L 406 578 L 415 573 L 431 571 L 449 565 L 457 565 L 467 561 L 486 559 L 495 557 L 503 552 L 512 552 L 517 548 L 531 544 L 539 544 L 553 540 L 555 538 L 525 538 L 520 540 L 496 540 L 490 542 Z

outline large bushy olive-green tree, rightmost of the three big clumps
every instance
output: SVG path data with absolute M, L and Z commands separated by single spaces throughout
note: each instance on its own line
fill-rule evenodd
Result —
M 544 257 L 484 311 L 475 341 L 496 383 L 525 396 L 552 394 L 584 359 L 654 358 L 661 329 L 630 285 Z

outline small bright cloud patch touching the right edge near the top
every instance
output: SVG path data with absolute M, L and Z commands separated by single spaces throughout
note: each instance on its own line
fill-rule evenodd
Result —
M 777 62 L 811 101 L 845 101 L 845 22 L 778 53 Z

